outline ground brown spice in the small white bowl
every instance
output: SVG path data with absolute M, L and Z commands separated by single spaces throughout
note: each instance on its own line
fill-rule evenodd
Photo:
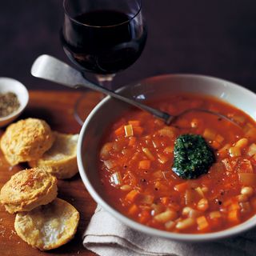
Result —
M 18 110 L 19 106 L 20 102 L 16 94 L 12 92 L 0 94 L 0 118 L 12 114 L 15 110 Z

